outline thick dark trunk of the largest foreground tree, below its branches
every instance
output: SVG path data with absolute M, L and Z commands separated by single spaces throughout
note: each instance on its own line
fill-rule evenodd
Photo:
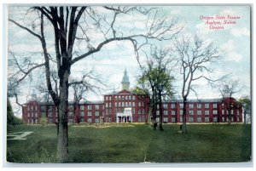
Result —
M 58 122 L 58 143 L 57 157 L 59 162 L 68 161 L 68 71 L 64 71 L 60 77 L 60 105 L 59 105 L 59 122 Z

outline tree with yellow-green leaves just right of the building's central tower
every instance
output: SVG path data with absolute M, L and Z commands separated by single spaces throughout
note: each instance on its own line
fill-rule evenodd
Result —
M 168 56 L 169 50 L 163 48 L 156 48 L 151 46 L 150 57 L 147 58 L 146 65 L 142 65 L 141 69 L 143 75 L 139 77 L 138 83 L 143 87 L 143 91 L 147 92 L 150 97 L 150 107 L 154 122 L 154 130 L 157 127 L 156 123 L 156 111 L 160 112 L 160 124 L 159 128 L 163 131 L 162 127 L 162 98 L 163 95 L 172 97 L 173 95 L 173 80 L 172 70 L 172 58 Z

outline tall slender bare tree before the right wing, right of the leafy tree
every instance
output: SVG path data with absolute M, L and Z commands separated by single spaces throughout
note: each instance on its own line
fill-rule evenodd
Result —
M 201 37 L 195 35 L 194 38 L 182 37 L 174 43 L 175 51 L 179 59 L 180 73 L 182 75 L 182 98 L 183 98 L 183 125 L 182 132 L 187 134 L 186 114 L 187 100 L 190 91 L 195 91 L 195 81 L 207 79 L 212 82 L 207 73 L 213 70 L 211 64 L 219 59 L 218 49 L 214 48 L 212 43 L 208 43 Z

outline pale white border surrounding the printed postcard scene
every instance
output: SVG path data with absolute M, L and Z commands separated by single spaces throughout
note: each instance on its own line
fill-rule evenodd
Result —
M 125 0 L 108 0 L 108 1 L 106 1 L 106 0 L 94 0 L 94 1 L 84 1 L 84 0 L 79 0 L 79 1 L 72 1 L 72 3 L 71 3 L 71 1 L 70 0 L 61 0 L 61 3 L 71 3 L 71 4 L 82 4 L 82 3 L 90 3 L 90 4 L 98 4 L 98 5 L 100 5 L 100 4 L 106 4 L 106 2 L 108 2 L 108 3 L 125 3 L 125 4 L 129 4 L 129 3 L 133 3 L 133 4 L 137 4 L 137 3 L 139 3 L 139 4 L 145 4 L 145 5 L 147 5 L 147 4 L 154 4 L 154 5 L 157 5 L 157 4 L 172 4 L 172 3 L 170 3 L 170 1 L 167 1 L 167 0 L 158 0 L 158 1 L 150 1 L 150 0 L 140 0 L 140 1 L 137 1 L 137 0 L 129 0 L 129 1 L 125 1 Z M 223 1 L 223 0 L 209 0 L 209 1 L 203 1 L 203 0 L 179 0 L 178 2 L 175 2 L 174 4 L 193 4 L 193 3 L 201 3 L 201 4 L 207 4 L 207 3 L 210 3 L 210 4 L 215 4 L 215 3 L 218 3 L 218 5 L 222 5 L 222 4 L 229 4 L 229 3 L 231 3 L 231 4 L 234 4 L 234 3 L 236 3 L 236 4 L 245 4 L 245 3 L 251 3 L 252 4 L 252 7 L 253 7 L 253 3 L 255 2 L 255 0 L 246 0 L 246 1 L 238 1 L 238 0 L 225 0 L 225 1 Z M 7 7 L 7 5 L 8 4 L 10 4 L 10 3 L 19 3 L 19 4 L 28 4 L 28 3 L 44 3 L 44 4 L 46 4 L 46 3 L 51 3 L 51 4 L 58 4 L 58 3 L 60 3 L 60 1 L 55 1 L 55 0 L 44 0 L 44 1 L 42 1 L 42 0 L 39 0 L 39 1 L 32 1 L 32 0 L 2 0 L 2 6 L 1 6 L 1 11 L 2 11 L 2 13 L 1 13 L 1 18 L 3 19 L 2 20 L 2 22 L 1 22 L 1 25 L 2 26 L 0 26 L 0 37 L 1 37 L 1 43 L 3 43 L 2 44 L 2 46 L 1 46 L 1 52 L 2 52 L 2 54 L 3 54 L 3 57 L 2 57 L 2 60 L 0 60 L 1 61 L 1 66 L 3 67 L 2 68 L 2 72 L 1 72 L 1 80 L 0 80 L 0 82 L 1 82 L 1 84 L 0 84 L 0 88 L 1 88 L 1 94 L 0 94 L 0 96 L 2 97 L 2 98 L 0 98 L 1 99 L 1 101 L 0 101 L 0 111 L 3 111 L 2 112 L 2 115 L 3 115 L 3 119 L 0 119 L 1 120 L 1 131 L 0 131 L 0 134 L 2 135 L 2 137 L 3 137 L 3 143 L 0 143 L 0 150 L 1 151 L 3 151 L 3 156 L 1 156 L 0 157 L 0 161 L 1 161 L 1 163 L 4 161 L 3 159 L 5 159 L 6 157 L 5 157 L 5 148 L 6 148 L 6 144 L 5 144 L 5 142 L 6 142 L 6 125 L 5 124 L 3 124 L 4 122 L 3 121 L 6 121 L 6 115 L 4 116 L 4 114 L 6 113 L 6 84 L 7 84 L 7 80 L 6 80 L 6 77 L 7 77 L 7 58 L 6 58 L 6 49 L 7 49 L 7 22 L 6 22 L 6 16 L 7 16 L 7 14 L 6 14 L 6 7 Z M 201 4 L 199 4 L 199 5 L 201 5 Z M 209 4 L 209 5 L 210 5 Z M 253 12 L 253 11 L 252 11 Z M 255 17 L 253 16 L 253 23 L 255 23 Z M 252 23 L 252 24 L 253 24 Z M 252 31 L 253 31 L 253 29 L 252 29 Z M 254 35 L 253 35 L 253 33 L 252 33 L 252 39 L 254 39 L 253 38 L 254 37 Z M 253 43 L 253 42 L 252 42 Z M 252 47 L 253 49 L 256 49 L 255 48 L 255 46 L 254 46 L 254 44 L 253 44 L 253 47 Z M 252 50 L 253 50 L 252 49 Z M 252 59 L 253 60 L 253 59 Z M 252 65 L 254 66 L 254 61 L 255 60 L 253 60 L 252 61 Z M 2 63 L 3 62 L 3 63 Z M 253 75 L 255 75 L 254 74 L 254 71 L 253 71 Z M 252 82 L 253 82 L 253 80 L 252 80 Z M 253 92 L 253 96 L 254 96 L 254 92 Z M 253 100 L 253 108 L 254 108 L 254 106 L 255 106 L 255 104 L 254 104 L 254 100 Z M 254 117 L 253 117 L 253 123 L 254 123 Z M 2 128 L 3 128 L 3 130 L 2 130 Z M 254 135 L 254 131 L 253 131 L 253 135 Z M 254 145 L 254 143 L 255 143 L 255 140 L 254 140 L 254 136 L 253 136 L 253 147 L 255 146 Z M 255 149 L 253 148 L 253 154 L 255 154 Z M 3 158 L 4 157 L 4 158 Z M 255 157 L 253 157 L 253 163 L 255 163 L 254 161 L 255 161 L 255 159 L 254 159 Z M 111 168 L 111 170 L 115 170 L 115 169 L 119 169 L 119 168 L 121 168 L 122 170 L 123 169 L 131 169 L 131 168 L 123 168 L 123 167 L 132 167 L 132 169 L 134 168 L 134 167 L 136 167 L 136 168 L 139 168 L 139 169 L 141 169 L 141 167 L 144 167 L 144 168 L 147 168 L 147 170 L 152 170 L 152 169 L 156 169 L 156 168 L 160 168 L 161 170 L 165 170 L 166 168 L 162 168 L 162 167 L 167 167 L 167 168 L 170 168 L 170 167 L 172 167 L 172 169 L 173 169 L 173 167 L 176 169 L 176 170 L 183 170 L 183 168 L 189 168 L 189 170 L 202 170 L 202 169 L 204 169 L 204 168 L 207 168 L 207 170 L 212 170 L 212 169 L 216 169 L 216 167 L 217 167 L 217 169 L 219 169 L 219 168 L 224 168 L 225 170 L 227 170 L 227 169 L 232 169 L 232 170 L 237 170 L 237 169 L 241 169 L 241 168 L 243 168 L 243 169 L 247 169 L 247 170 L 253 170 L 253 168 L 244 168 L 244 167 L 250 167 L 250 165 L 248 165 L 247 163 L 217 163 L 217 164 L 215 164 L 215 163 L 174 163 L 174 164 L 154 164 L 154 165 L 151 165 L 151 164 L 149 164 L 149 165 L 147 165 L 147 164 L 143 164 L 143 165 L 138 165 L 138 164 L 135 164 L 135 165 L 133 165 L 133 164 L 45 164 L 45 165 L 40 165 L 40 164 L 7 164 L 7 163 L 4 163 L 3 162 L 3 164 L 4 164 L 4 167 L 15 167 L 15 168 L 19 168 L 19 170 L 23 170 L 24 168 L 26 169 L 26 170 L 31 170 L 31 169 L 34 169 L 34 167 L 36 167 L 37 169 L 38 169 L 38 167 L 44 167 L 44 168 L 60 168 L 61 167 L 61 170 L 70 170 L 70 168 L 73 168 L 73 167 L 77 167 L 77 168 L 75 168 L 76 170 L 84 170 L 84 167 L 92 167 L 93 169 L 95 169 L 95 168 L 98 168 L 98 167 L 100 167 L 100 168 Z M 2 167 L 3 167 L 3 165 L 2 165 Z M 64 168 L 63 168 L 64 167 Z M 149 167 L 149 168 L 148 168 Z M 232 167 L 232 168 L 226 168 L 226 167 Z M 252 167 L 252 165 L 251 165 L 251 167 Z M 92 169 L 92 168 L 90 168 L 90 169 Z M 4 168 L 4 169 L 6 169 L 6 168 Z M 25 170 L 24 169 L 24 170 Z M 40 168 L 39 168 L 40 169 Z M 88 168 L 86 168 L 86 169 L 88 169 Z M 205 170 L 205 169 L 204 169 Z

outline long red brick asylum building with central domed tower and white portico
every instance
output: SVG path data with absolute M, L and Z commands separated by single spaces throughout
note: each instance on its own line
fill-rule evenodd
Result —
M 68 106 L 68 123 L 147 123 L 149 98 L 145 94 L 136 94 L 129 91 L 129 77 L 127 71 L 122 79 L 122 89 L 119 92 L 105 94 L 103 101 L 87 101 Z M 228 93 L 228 92 L 227 92 Z M 25 123 L 39 123 L 41 117 L 46 117 L 48 123 L 56 123 L 57 109 L 53 103 L 38 102 L 35 95 L 22 107 L 22 119 Z M 117 117 L 125 108 L 131 108 L 131 116 Z M 242 123 L 241 105 L 227 94 L 220 99 L 188 100 L 186 106 L 187 123 Z M 157 111 L 163 111 L 164 123 L 183 122 L 183 101 L 164 100 Z M 119 116 L 119 115 L 118 115 Z

